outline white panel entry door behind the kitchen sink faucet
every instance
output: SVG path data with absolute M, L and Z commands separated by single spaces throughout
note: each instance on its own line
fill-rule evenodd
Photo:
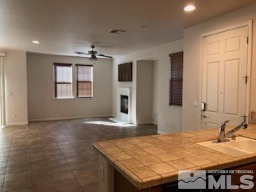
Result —
M 203 38 L 202 102 L 206 111 L 202 128 L 224 120 L 240 124 L 246 114 L 248 26 Z

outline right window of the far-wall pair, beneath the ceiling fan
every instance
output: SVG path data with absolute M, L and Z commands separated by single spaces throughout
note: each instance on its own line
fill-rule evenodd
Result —
M 92 65 L 76 65 L 76 96 L 92 97 L 93 68 Z

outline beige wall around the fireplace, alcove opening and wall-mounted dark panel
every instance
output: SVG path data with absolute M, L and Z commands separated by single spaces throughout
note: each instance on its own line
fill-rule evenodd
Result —
M 158 60 L 158 131 L 160 132 L 178 132 L 181 130 L 182 108 L 169 106 L 169 54 L 183 50 L 183 40 L 177 40 L 168 44 L 163 44 L 134 54 L 120 56 L 113 62 L 113 96 L 112 96 L 112 114 L 116 115 L 117 110 L 117 88 L 131 86 L 136 90 L 136 62 L 154 58 Z M 118 82 L 118 64 L 133 62 L 133 82 Z M 136 100 L 136 91 L 133 91 L 133 100 Z M 134 113 L 133 113 L 134 114 Z M 133 116 L 133 122 L 136 123 L 136 112 Z

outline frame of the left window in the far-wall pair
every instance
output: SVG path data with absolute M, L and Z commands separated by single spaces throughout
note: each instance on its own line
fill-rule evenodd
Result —
M 73 79 L 72 79 L 72 64 L 66 64 L 66 63 L 53 63 L 54 65 L 54 98 L 55 99 L 72 99 L 74 98 L 73 96 Z M 57 66 L 69 66 L 71 68 L 71 82 L 57 82 L 57 70 L 56 70 L 56 67 Z M 63 98 L 60 98 L 57 96 L 57 84 L 71 84 L 71 97 L 63 97 Z

